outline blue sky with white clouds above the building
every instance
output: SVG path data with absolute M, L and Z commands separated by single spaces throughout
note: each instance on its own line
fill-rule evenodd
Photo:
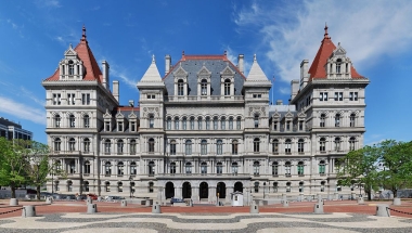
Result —
M 253 54 L 268 78 L 271 100 L 289 99 L 299 64 L 312 62 L 327 22 L 335 44 L 346 49 L 366 88 L 365 144 L 384 139 L 411 141 L 412 1 L 2 1 L 0 7 L 0 116 L 23 125 L 46 143 L 46 91 L 81 27 L 98 62 L 120 81 L 120 103 L 139 100 L 136 83 L 156 57 L 172 63 L 185 54 L 223 54 L 237 63 Z

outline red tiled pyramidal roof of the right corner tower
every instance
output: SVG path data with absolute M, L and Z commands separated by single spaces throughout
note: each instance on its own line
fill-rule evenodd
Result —
M 325 34 L 322 40 L 321 47 L 318 50 L 317 55 L 312 62 L 312 65 L 309 68 L 310 78 L 326 78 L 325 65 L 327 63 L 327 59 L 331 56 L 333 51 L 336 49 L 335 44 L 332 42 L 331 37 L 327 34 L 327 26 L 325 26 Z M 363 78 L 353 66 L 350 67 L 350 73 L 352 78 Z

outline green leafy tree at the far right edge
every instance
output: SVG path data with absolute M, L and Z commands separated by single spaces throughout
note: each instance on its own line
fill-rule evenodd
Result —
M 412 141 L 386 140 L 379 143 L 378 161 L 384 167 L 378 180 L 385 189 L 397 197 L 398 190 L 412 184 Z

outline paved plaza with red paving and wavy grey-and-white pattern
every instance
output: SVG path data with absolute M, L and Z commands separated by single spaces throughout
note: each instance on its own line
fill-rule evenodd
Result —
M 150 207 L 99 203 L 96 213 L 86 213 L 83 203 L 56 203 L 37 206 L 37 217 L 22 218 L 21 211 L 0 216 L 0 232 L 411 232 L 412 218 L 371 215 L 374 204 L 325 203 L 325 213 L 310 212 L 313 203 L 291 207 L 261 207 L 260 213 L 248 207 L 162 207 L 163 213 L 151 213 Z M 16 208 L 16 207 L 14 207 Z M 100 208 L 100 209 L 99 209 Z M 410 205 L 399 209 L 410 210 Z M 11 208 L 0 208 L 0 212 Z M 337 212 L 327 212 L 335 209 Z M 351 212 L 339 212 L 345 209 Z M 359 210 L 359 211 L 358 211 Z M 394 212 L 395 213 L 395 212 Z M 8 215 L 10 217 L 8 217 Z M 407 216 L 405 216 L 407 217 Z

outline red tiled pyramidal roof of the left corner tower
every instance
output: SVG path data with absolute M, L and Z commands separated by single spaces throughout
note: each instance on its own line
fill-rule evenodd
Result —
M 83 62 L 85 66 L 85 78 L 82 80 L 93 81 L 98 80 L 102 82 L 102 72 L 98 65 L 98 62 L 94 59 L 93 53 L 90 50 L 88 41 L 86 39 L 86 27 L 82 28 L 82 36 L 80 42 L 74 49 L 77 52 L 78 57 Z M 47 81 L 56 81 L 59 80 L 60 67 L 54 72 L 54 74 L 46 79 Z

